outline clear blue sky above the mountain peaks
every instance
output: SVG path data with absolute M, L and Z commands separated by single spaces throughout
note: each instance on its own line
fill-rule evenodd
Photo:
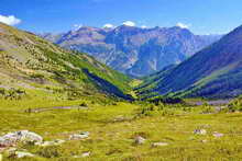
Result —
M 148 27 L 180 23 L 196 34 L 221 34 L 242 24 L 241 7 L 241 0 L 1 0 L 0 21 L 32 32 L 132 21 Z

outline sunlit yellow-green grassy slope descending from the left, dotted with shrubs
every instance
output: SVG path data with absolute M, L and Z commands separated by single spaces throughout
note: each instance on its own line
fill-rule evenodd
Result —
M 11 88 L 34 93 L 45 91 L 46 94 L 69 91 L 68 94 L 74 93 L 74 96 L 99 94 L 99 90 L 114 95 L 130 91 L 130 78 L 92 57 L 64 50 L 31 33 L 4 24 L 0 24 L 0 88 L 4 93 L 9 93 Z M 90 78 L 84 69 L 105 84 Z

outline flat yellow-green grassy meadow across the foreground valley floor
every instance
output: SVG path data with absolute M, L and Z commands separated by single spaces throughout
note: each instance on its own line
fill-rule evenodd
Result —
M 33 106 L 28 106 L 32 104 Z M 76 108 L 84 105 L 87 107 Z M 70 106 L 70 108 L 53 108 Z M 72 108 L 72 106 L 74 108 Z M 205 106 L 150 106 L 139 103 L 86 101 L 0 102 L 0 134 L 28 129 L 45 140 L 66 140 L 59 146 L 19 145 L 35 154 L 18 160 L 242 160 L 242 113 L 209 113 Z M 51 107 L 50 111 L 30 108 Z M 194 134 L 196 129 L 206 134 Z M 69 140 L 73 134 L 89 137 Z M 220 134 L 220 135 L 215 135 Z M 135 143 L 135 137 L 145 139 Z M 155 145 L 156 142 L 156 145 Z M 160 142 L 161 145 L 157 146 Z M 88 153 L 86 158 L 75 158 Z M 4 158 L 3 160 L 16 160 Z

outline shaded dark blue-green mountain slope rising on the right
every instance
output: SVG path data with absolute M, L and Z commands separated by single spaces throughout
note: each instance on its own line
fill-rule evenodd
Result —
M 242 94 L 242 26 L 178 66 L 145 79 L 143 96 L 233 97 Z

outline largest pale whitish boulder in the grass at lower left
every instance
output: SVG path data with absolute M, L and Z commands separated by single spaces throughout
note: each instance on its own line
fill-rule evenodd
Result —
M 18 142 L 42 142 L 43 138 L 29 130 L 20 130 L 15 133 L 9 133 L 0 137 L 0 147 L 12 147 Z

